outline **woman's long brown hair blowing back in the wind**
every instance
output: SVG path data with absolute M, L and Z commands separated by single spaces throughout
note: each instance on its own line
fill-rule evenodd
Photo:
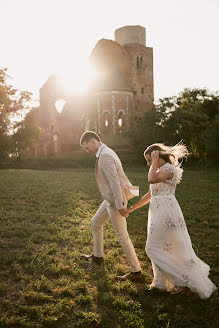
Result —
M 189 156 L 189 151 L 182 141 L 178 142 L 175 146 L 166 146 L 163 143 L 155 143 L 147 147 L 144 151 L 144 156 L 146 154 L 151 155 L 154 150 L 158 150 L 159 157 L 174 166 L 180 166 L 181 161 L 179 160 L 183 160 Z

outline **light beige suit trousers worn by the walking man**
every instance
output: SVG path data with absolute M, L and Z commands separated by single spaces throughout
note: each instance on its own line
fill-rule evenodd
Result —
M 134 246 L 129 238 L 126 218 L 119 211 L 113 208 L 107 200 L 104 200 L 91 220 L 93 232 L 93 252 L 94 256 L 104 256 L 103 245 L 103 224 L 108 220 L 112 222 L 116 237 L 126 254 L 132 272 L 141 270 L 141 265 L 135 253 Z

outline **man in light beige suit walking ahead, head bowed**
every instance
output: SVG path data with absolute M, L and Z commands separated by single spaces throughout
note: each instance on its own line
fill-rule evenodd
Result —
M 107 147 L 93 131 L 86 131 L 80 145 L 91 154 L 96 154 L 96 181 L 104 201 L 91 220 L 93 232 L 93 254 L 82 255 L 84 260 L 91 259 L 101 264 L 104 257 L 103 224 L 109 219 L 117 239 L 129 261 L 131 271 L 120 280 L 140 281 L 143 279 L 141 265 L 127 231 L 126 206 L 128 199 L 138 196 L 138 187 L 132 186 L 125 175 L 121 161 L 116 153 Z

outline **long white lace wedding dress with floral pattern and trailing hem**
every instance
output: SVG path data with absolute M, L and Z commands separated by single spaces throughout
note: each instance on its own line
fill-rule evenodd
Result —
M 170 291 L 187 286 L 201 298 L 208 298 L 216 286 L 208 278 L 210 267 L 197 257 L 175 189 L 183 170 L 165 163 L 160 170 L 174 173 L 171 180 L 151 184 L 146 253 L 152 262 L 154 279 L 151 287 Z

